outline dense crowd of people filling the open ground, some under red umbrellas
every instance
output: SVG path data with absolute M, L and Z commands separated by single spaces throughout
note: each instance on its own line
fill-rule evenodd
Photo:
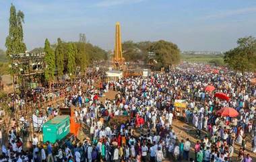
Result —
M 34 136 L 25 151 L 13 128 L 8 145 L 2 145 L 0 161 L 252 162 L 251 153 L 256 153 L 252 77 L 251 73 L 241 76 L 224 68 L 184 64 L 150 77 L 102 81 L 99 86 L 89 81 L 87 89 L 72 89 L 63 102 L 63 106 L 77 107 L 76 120 L 86 126 L 88 138 L 43 146 Z M 215 90 L 205 91 L 207 85 Z M 115 99 L 100 102 L 110 90 L 117 92 Z M 216 92 L 230 99 L 214 97 Z M 175 99 L 185 101 L 187 107 L 177 108 Z M 216 112 L 223 107 L 236 109 L 238 116 L 219 116 Z M 53 108 L 49 106 L 49 115 L 57 115 L 49 109 Z M 174 119 L 186 122 L 189 129 L 177 132 L 181 126 L 174 126 Z

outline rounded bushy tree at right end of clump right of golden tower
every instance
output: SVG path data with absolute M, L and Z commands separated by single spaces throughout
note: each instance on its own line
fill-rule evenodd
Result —
M 161 67 L 168 68 L 172 65 L 179 64 L 181 60 L 180 50 L 176 44 L 172 42 L 166 42 L 164 40 L 159 40 L 154 42 L 149 48 L 149 52 L 154 52 L 156 55 L 156 68 Z

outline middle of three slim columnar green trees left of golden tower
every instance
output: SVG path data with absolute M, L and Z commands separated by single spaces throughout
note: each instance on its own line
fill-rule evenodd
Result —
M 57 75 L 61 77 L 64 71 L 64 51 L 63 51 L 63 43 L 61 42 L 61 38 L 58 38 L 58 44 L 55 48 L 55 62 L 57 68 Z

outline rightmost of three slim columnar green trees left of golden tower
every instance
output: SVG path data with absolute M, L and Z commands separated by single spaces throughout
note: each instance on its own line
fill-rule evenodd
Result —
M 73 75 L 75 73 L 75 54 L 77 49 L 75 45 L 69 43 L 67 46 L 67 73 Z

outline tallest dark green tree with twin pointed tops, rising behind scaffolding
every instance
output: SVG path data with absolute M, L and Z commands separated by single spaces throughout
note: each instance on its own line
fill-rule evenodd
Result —
M 18 11 L 16 13 L 15 6 L 11 4 L 10 17 L 9 17 L 9 35 L 5 40 L 5 46 L 7 48 L 6 54 L 18 54 L 26 52 L 26 44 L 23 40 L 22 23 L 24 23 L 24 13 Z

